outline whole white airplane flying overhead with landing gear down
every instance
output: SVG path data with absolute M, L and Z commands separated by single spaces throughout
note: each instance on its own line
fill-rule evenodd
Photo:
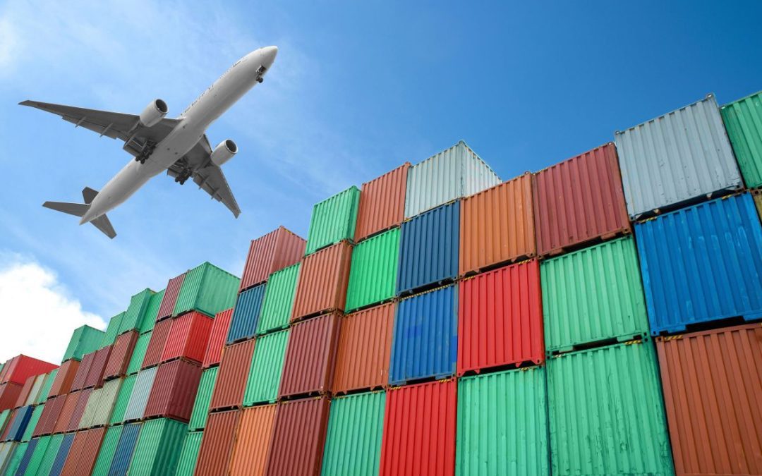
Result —
M 134 157 L 100 192 L 90 187 L 82 189 L 85 203 L 45 202 L 43 206 L 81 217 L 80 225 L 91 223 L 108 238 L 114 238 L 117 233 L 106 212 L 130 198 L 149 179 L 167 171 L 181 185 L 193 177 L 199 188 L 238 218 L 241 209 L 221 168 L 238 152 L 238 145 L 226 139 L 212 149 L 206 131 L 246 92 L 264 81 L 277 52 L 277 46 L 267 46 L 236 61 L 177 119 L 165 117 L 168 107 L 161 99 L 151 101 L 139 115 L 37 101 L 19 103 L 57 114 L 75 127 L 90 129 L 101 137 L 123 140 L 123 149 Z

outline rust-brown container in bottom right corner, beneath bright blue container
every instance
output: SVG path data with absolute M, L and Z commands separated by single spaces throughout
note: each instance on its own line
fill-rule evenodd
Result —
M 656 343 L 677 474 L 762 474 L 762 327 Z

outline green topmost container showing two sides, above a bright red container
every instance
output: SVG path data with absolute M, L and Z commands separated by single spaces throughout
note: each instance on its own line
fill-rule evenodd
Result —
M 172 315 L 200 311 L 214 317 L 232 308 L 241 280 L 210 263 L 203 263 L 185 274 Z

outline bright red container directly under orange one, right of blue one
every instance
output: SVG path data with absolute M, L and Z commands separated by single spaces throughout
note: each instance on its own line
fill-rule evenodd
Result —
M 458 375 L 545 362 L 537 260 L 461 281 L 458 308 Z

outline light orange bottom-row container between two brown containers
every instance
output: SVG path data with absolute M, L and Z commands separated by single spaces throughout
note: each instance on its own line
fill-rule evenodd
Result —
M 276 405 L 245 408 L 235 433 L 230 458 L 230 474 L 262 476 L 267 465 L 267 449 L 273 433 Z

